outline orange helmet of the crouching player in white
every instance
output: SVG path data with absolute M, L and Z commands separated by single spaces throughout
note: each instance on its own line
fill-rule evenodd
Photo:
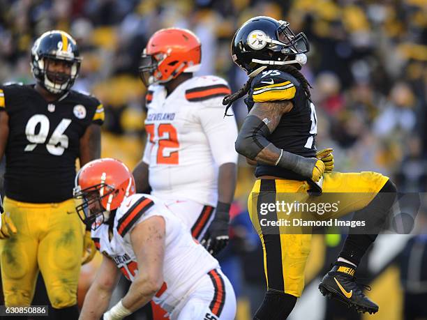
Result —
M 83 200 L 76 211 L 84 224 L 96 229 L 104 222 L 105 211 L 109 215 L 135 190 L 135 179 L 123 162 L 112 158 L 93 160 L 75 177 L 73 195 Z

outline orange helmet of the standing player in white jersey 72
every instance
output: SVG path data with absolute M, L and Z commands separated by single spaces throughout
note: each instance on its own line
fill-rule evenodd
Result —
M 141 55 L 140 77 L 145 86 L 168 82 L 200 68 L 202 45 L 197 36 L 179 28 L 161 29 L 151 36 Z

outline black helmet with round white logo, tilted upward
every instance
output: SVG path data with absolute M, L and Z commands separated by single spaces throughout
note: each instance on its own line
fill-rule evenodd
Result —
M 271 17 L 253 17 L 234 34 L 231 53 L 234 63 L 250 74 L 261 66 L 293 64 L 301 69 L 310 46 L 302 32 L 295 35 L 289 22 Z

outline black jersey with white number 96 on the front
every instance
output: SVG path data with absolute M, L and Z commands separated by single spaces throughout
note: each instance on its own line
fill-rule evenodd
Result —
M 47 102 L 33 85 L 12 84 L 0 86 L 0 111 L 9 117 L 6 196 L 31 203 L 72 198 L 80 138 L 91 123 L 104 121 L 99 100 L 68 91 Z

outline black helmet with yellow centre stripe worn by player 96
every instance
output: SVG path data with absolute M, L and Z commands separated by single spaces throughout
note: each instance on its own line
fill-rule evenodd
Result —
M 51 61 L 65 61 L 70 73 L 52 73 L 47 66 Z M 47 91 L 61 94 L 73 86 L 79 75 L 79 49 L 75 40 L 66 32 L 52 30 L 43 33 L 31 49 L 31 72 Z

